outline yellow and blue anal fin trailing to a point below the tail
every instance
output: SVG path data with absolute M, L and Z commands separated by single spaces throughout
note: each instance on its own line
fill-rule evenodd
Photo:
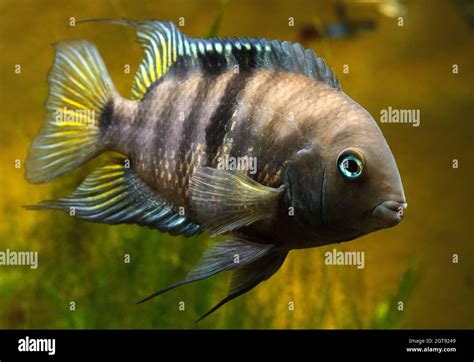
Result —
M 88 221 L 138 224 L 171 235 L 201 232 L 200 225 L 175 212 L 125 165 L 117 159 L 94 171 L 70 196 L 27 208 L 59 209 Z

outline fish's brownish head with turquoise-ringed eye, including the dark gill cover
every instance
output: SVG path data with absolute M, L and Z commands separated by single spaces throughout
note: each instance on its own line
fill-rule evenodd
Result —
M 380 128 L 343 92 L 326 98 L 331 101 L 308 117 L 318 119 L 311 123 L 310 145 L 296 152 L 287 168 L 288 198 L 298 223 L 324 242 L 397 225 L 407 203 Z

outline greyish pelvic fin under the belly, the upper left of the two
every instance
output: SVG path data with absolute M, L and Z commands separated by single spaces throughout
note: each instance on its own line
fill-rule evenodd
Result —
M 273 245 L 257 244 L 246 240 L 216 242 L 204 252 L 199 263 L 189 272 L 185 279 L 153 293 L 139 303 L 143 303 L 181 285 L 251 264 L 260 258 L 263 259 L 272 249 Z

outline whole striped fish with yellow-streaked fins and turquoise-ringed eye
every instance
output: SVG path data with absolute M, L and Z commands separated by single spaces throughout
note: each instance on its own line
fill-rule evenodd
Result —
M 27 208 L 214 238 L 184 279 L 139 303 L 230 271 L 227 296 L 201 320 L 269 279 L 291 250 L 403 219 L 401 177 L 380 128 L 313 50 L 193 38 L 161 20 L 97 21 L 135 30 L 144 49 L 131 99 L 94 44 L 55 44 L 25 177 L 46 183 L 104 152 L 119 156 L 69 196 Z

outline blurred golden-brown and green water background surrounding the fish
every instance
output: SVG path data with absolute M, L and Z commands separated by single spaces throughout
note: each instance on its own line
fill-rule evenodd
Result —
M 404 4 L 0 0 L 0 251 L 39 252 L 36 270 L 0 266 L 0 328 L 473 328 L 472 2 Z M 323 29 L 340 22 L 341 9 L 347 36 L 328 36 L 333 28 L 329 34 Z M 130 95 L 143 56 L 131 29 L 68 27 L 70 17 L 175 22 L 184 17 L 181 30 L 191 36 L 299 41 L 325 57 L 343 90 L 376 120 L 389 106 L 420 109 L 418 128 L 380 125 L 408 199 L 404 222 L 350 243 L 293 251 L 269 281 L 199 324 L 195 319 L 226 295 L 229 275 L 136 305 L 184 277 L 210 241 L 21 207 L 70 193 L 101 162 L 42 186 L 23 177 L 27 148 L 44 116 L 51 44 L 94 42 L 123 96 Z M 289 17 L 294 26 L 288 26 Z M 130 74 L 124 73 L 126 64 Z M 453 64 L 459 74 L 453 74 Z M 458 169 L 452 168 L 453 159 L 459 160 Z M 334 247 L 364 251 L 365 269 L 324 266 L 324 252 Z M 458 264 L 452 263 L 453 253 Z M 129 264 L 124 254 L 130 254 Z M 70 301 L 75 311 L 69 310 Z M 288 310 L 290 301 L 294 311 Z M 404 311 L 397 310 L 398 301 L 404 301 Z

